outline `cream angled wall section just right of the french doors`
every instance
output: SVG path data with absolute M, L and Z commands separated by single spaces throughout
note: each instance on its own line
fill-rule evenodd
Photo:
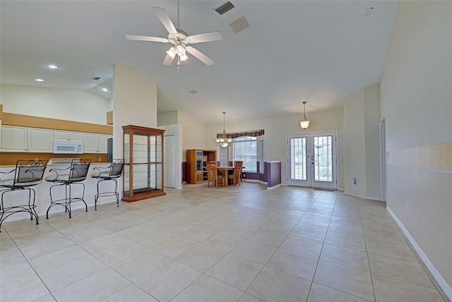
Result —
M 345 193 L 374 200 L 380 199 L 379 89 L 365 87 L 343 103 Z

